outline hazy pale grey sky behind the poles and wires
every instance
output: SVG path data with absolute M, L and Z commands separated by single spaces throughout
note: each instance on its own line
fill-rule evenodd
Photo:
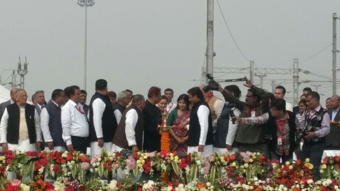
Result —
M 339 0 L 219 2 L 238 46 L 259 68 L 290 68 L 293 58 L 303 61 L 319 52 L 332 43 L 332 14 L 340 16 Z M 109 90 L 115 92 L 128 88 L 146 95 L 153 85 L 162 91 L 170 87 L 175 99 L 199 85 L 206 47 L 206 4 L 206 0 L 96 0 L 87 12 L 89 97 L 97 79 L 106 79 Z M 232 41 L 216 0 L 214 12 L 214 67 L 249 67 Z M 84 88 L 84 28 L 85 8 L 77 0 L 2 0 L 0 72 L 16 69 L 18 56 L 23 61 L 26 55 L 29 95 L 45 90 L 49 99 L 57 88 Z M 300 68 L 331 77 L 331 50 L 301 63 Z M 4 71 L 2 81 L 9 76 Z M 219 79 L 243 76 L 229 74 Z M 301 80 L 324 80 L 300 76 Z M 272 90 L 271 79 L 292 79 L 292 75 L 266 78 L 264 88 Z M 255 83 L 259 84 L 259 78 L 255 77 Z M 331 96 L 331 83 L 312 84 L 323 84 L 319 88 L 325 95 L 323 101 Z M 300 92 L 312 84 L 300 85 Z M 281 85 L 292 92 L 292 83 Z M 245 92 L 242 87 L 243 96 Z

